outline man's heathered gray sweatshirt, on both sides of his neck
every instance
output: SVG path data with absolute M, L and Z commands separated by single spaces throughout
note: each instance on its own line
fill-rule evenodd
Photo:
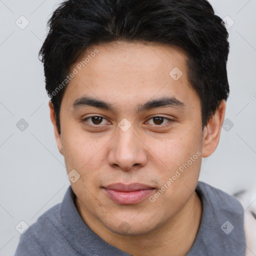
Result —
M 243 208 L 238 200 L 200 181 L 195 191 L 202 201 L 202 217 L 186 256 L 245 255 Z M 63 201 L 21 234 L 14 256 L 128 256 L 86 225 L 74 200 L 75 194 L 69 186 Z

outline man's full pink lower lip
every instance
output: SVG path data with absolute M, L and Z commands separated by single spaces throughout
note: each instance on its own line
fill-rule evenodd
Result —
M 104 189 L 106 195 L 112 199 L 114 202 L 119 204 L 135 204 L 143 201 L 148 197 L 153 191 L 153 188 L 150 189 L 141 189 L 136 191 L 116 191 L 113 189 Z

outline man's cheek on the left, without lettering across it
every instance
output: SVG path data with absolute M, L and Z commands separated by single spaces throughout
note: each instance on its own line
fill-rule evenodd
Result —
M 102 183 L 100 170 L 104 161 L 102 147 L 105 139 L 90 138 L 85 132 L 82 134 L 73 130 L 63 133 L 62 141 L 67 172 L 74 169 L 79 174 L 74 183 L 70 182 L 72 189 L 77 197 L 84 200 L 83 203 L 97 203 L 94 200 Z

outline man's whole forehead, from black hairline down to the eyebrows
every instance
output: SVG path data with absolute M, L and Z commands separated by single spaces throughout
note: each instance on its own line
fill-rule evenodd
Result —
M 64 97 L 73 104 L 81 96 L 90 95 L 122 109 L 133 102 L 138 105 L 167 95 L 181 102 L 185 98 L 198 100 L 187 80 L 186 59 L 179 47 L 150 42 L 90 46 L 71 67 L 77 74 Z

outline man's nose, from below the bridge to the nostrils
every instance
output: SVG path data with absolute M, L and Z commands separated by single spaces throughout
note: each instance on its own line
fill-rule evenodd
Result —
M 137 134 L 134 125 L 126 131 L 118 127 L 111 139 L 108 163 L 126 171 L 143 167 L 147 161 L 146 149 L 143 138 Z

